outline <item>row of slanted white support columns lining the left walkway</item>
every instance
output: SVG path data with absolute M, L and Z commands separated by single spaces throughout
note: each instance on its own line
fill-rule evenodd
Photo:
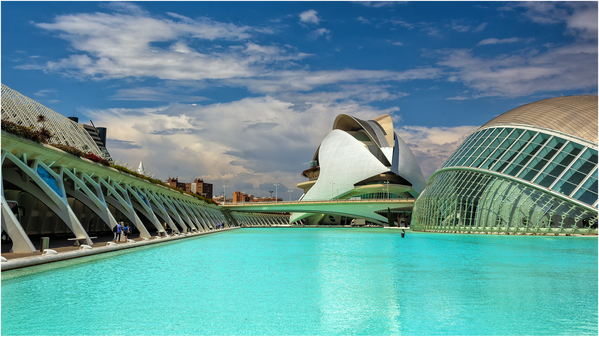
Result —
M 75 216 L 67 195 L 89 207 L 109 228 L 117 224 L 117 220 L 108 208 L 108 205 L 113 206 L 140 231 L 141 237 L 150 237 L 146 225 L 155 228 L 159 234 L 166 232 L 163 223 L 183 233 L 215 229 L 217 223 L 235 225 L 231 220 L 226 219 L 216 206 L 193 198 L 178 198 L 162 194 L 160 191 L 162 187 L 158 185 L 156 190 L 139 188 L 122 183 L 122 180 L 113 180 L 110 176 L 104 179 L 94 176 L 94 173 L 68 169 L 65 166 L 52 167 L 54 163 L 46 164 L 39 159 L 30 160 L 31 163 L 28 165 L 26 154 L 17 158 L 6 150 L 2 151 L 1 158 L 2 180 L 13 183 L 46 204 L 66 223 L 75 237 L 84 238 L 83 241 L 88 245 L 92 245 L 93 241 Z M 5 166 L 7 160 L 15 166 Z M 36 252 L 19 220 L 6 203 L 3 185 L 2 229 L 13 240 L 11 252 Z M 138 213 L 149 219 L 150 223 L 144 224 Z

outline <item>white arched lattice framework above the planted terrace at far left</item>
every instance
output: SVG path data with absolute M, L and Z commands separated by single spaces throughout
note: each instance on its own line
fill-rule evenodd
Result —
M 107 152 L 101 151 L 81 125 L 69 120 L 29 97 L 2 84 L 2 120 L 11 121 L 24 127 L 37 127 L 38 115 L 46 117 L 44 126 L 54 137 L 53 143 L 72 146 L 84 152 L 92 152 L 101 158 L 110 159 Z

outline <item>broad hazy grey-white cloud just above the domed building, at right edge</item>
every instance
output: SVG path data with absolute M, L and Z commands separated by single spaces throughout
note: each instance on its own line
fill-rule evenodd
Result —
M 597 44 L 524 50 L 497 57 L 474 56 L 471 50 L 445 51 L 438 65 L 455 70 L 450 81 L 476 90 L 473 97 L 527 96 L 543 91 L 597 88 Z

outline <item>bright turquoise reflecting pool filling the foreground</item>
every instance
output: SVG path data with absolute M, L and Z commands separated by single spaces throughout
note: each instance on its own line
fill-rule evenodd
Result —
M 597 335 L 597 238 L 244 228 L 2 272 L 2 335 Z

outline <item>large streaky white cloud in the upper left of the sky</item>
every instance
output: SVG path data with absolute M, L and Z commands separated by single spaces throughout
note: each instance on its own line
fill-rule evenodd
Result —
M 141 13 L 141 14 L 140 14 Z M 252 27 L 190 19 L 168 13 L 171 19 L 156 19 L 141 11 L 71 14 L 53 23 L 37 26 L 60 33 L 77 50 L 65 59 L 45 65 L 23 65 L 21 69 L 43 69 L 67 76 L 92 79 L 156 77 L 160 79 L 218 79 L 253 76 L 265 65 L 301 60 L 305 53 L 246 42 Z M 202 51 L 204 42 L 223 39 L 233 42 L 219 51 Z M 158 45 L 168 47 L 158 47 Z

